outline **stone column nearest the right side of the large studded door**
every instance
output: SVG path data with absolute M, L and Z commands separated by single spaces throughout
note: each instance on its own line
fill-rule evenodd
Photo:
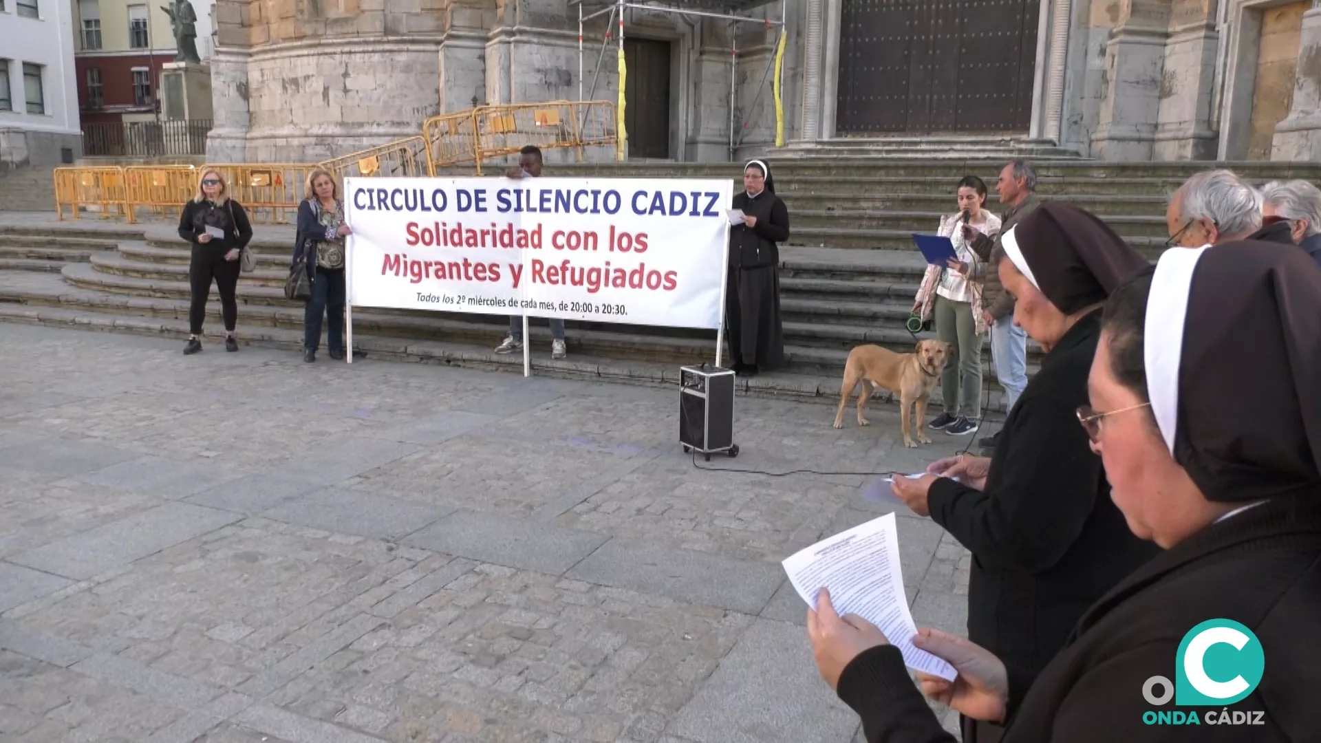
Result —
M 1123 0 L 1106 45 L 1106 90 L 1092 135 L 1092 156 L 1151 160 L 1165 73 L 1168 0 Z

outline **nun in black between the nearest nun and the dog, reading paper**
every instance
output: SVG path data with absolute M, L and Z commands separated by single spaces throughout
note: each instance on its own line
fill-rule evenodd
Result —
M 937 461 L 894 492 L 972 553 L 968 639 L 1036 673 L 1087 607 L 1157 551 L 1110 501 L 1075 415 L 1087 403 L 1102 303 L 1148 262 L 1104 222 L 1062 202 L 1042 204 L 1000 242 L 1015 320 L 1048 350 L 1041 370 L 991 457 Z M 995 743 L 1003 732 L 972 719 L 963 728 L 966 743 Z

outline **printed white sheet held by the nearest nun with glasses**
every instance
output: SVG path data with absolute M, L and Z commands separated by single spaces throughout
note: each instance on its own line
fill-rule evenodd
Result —
M 958 676 L 947 661 L 913 645 L 917 625 L 904 595 L 893 513 L 799 550 L 783 566 L 807 606 L 815 607 L 816 594 L 827 588 L 840 616 L 856 613 L 875 624 L 900 649 L 905 665 L 947 681 Z

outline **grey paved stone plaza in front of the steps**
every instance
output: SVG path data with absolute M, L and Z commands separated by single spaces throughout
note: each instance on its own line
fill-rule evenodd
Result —
M 847 743 L 779 561 L 865 477 L 705 472 L 676 393 L 0 324 L 0 740 Z M 703 467 L 913 471 L 740 398 Z M 967 553 L 902 512 L 918 624 Z M 946 714 L 947 727 L 954 715 Z

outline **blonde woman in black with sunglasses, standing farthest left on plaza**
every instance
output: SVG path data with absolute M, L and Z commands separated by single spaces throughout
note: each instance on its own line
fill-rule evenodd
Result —
M 178 217 L 178 237 L 193 246 L 188 266 L 192 305 L 188 311 L 189 337 L 185 354 L 202 350 L 202 321 L 206 319 L 206 300 L 211 282 L 221 292 L 221 316 L 225 319 L 225 350 L 238 350 L 234 325 L 239 305 L 235 292 L 239 284 L 239 256 L 252 239 L 252 225 L 247 212 L 229 197 L 225 178 L 207 168 L 197 182 L 197 196 L 184 205 Z

